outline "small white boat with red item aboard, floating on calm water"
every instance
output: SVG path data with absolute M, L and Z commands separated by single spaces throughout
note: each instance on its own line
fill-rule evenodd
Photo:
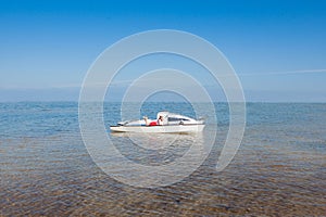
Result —
M 163 122 L 158 124 L 158 119 L 163 117 Z M 155 124 L 156 123 L 156 124 Z M 200 132 L 204 128 L 203 119 L 193 119 L 170 112 L 159 112 L 156 119 L 139 119 L 120 122 L 116 126 L 110 126 L 112 132 Z

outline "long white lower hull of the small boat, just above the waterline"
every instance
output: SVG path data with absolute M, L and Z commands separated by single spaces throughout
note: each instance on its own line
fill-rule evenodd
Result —
M 112 132 L 185 133 L 200 132 L 204 125 L 111 126 Z

